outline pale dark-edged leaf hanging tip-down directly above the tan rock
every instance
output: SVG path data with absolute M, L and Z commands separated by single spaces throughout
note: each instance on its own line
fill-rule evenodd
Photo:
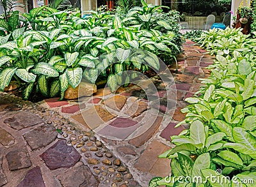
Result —
M 82 80 L 82 68 L 67 68 L 66 73 L 70 86 L 77 87 Z

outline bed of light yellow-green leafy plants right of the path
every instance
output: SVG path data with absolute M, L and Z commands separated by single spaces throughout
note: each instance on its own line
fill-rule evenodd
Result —
M 236 29 L 218 30 L 216 33 L 220 37 L 208 38 L 206 43 L 207 33 L 202 38 L 208 50 L 214 50 L 214 43 L 223 39 L 230 42 L 223 33 L 232 33 L 234 37 L 231 41 L 243 35 Z M 211 76 L 201 79 L 204 86 L 195 96 L 186 99 L 190 105 L 182 109 L 187 113 L 186 119 L 177 126 L 188 123 L 189 130 L 171 137 L 175 147 L 159 156 L 172 158 L 172 176 L 154 178 L 151 186 L 255 185 L 255 45 L 247 43 L 250 50 L 244 52 L 241 50 L 243 42 L 246 41 L 236 40 L 236 45 L 231 42 L 230 49 L 220 46 L 216 52 Z M 212 180 L 212 177 L 217 180 Z M 251 181 L 248 182 L 248 179 Z

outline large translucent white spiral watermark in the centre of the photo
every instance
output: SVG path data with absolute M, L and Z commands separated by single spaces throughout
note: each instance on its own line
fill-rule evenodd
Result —
M 120 51 L 122 57 L 120 57 Z M 124 61 L 123 58 L 126 60 Z M 156 61 L 158 68 L 154 68 Z M 120 73 L 115 72 L 116 64 L 123 66 Z M 125 88 L 125 91 L 130 91 L 128 94 L 131 95 L 117 94 L 118 96 L 116 96 L 115 91 L 109 94 L 109 87 L 106 84 L 102 96 L 100 96 L 104 103 L 93 105 L 90 108 L 81 105 L 84 99 L 84 88 L 79 87 L 81 115 L 87 126 L 97 135 L 112 140 L 129 140 L 145 133 L 159 121 L 160 129 L 170 123 L 176 107 L 175 82 L 166 64 L 155 54 L 141 49 L 120 49 L 97 57 L 95 66 L 97 66 L 95 67 L 96 71 L 92 71 L 91 68 L 85 70 L 88 73 L 88 78 L 94 76 L 96 80 L 101 75 L 111 74 L 117 76 L 115 77 L 116 89 L 132 85 L 132 87 Z M 147 77 L 145 73 L 135 71 L 134 68 L 131 69 L 131 66 L 141 66 L 141 68 L 148 66 L 154 71 L 156 80 Z M 93 75 L 91 72 L 97 73 L 97 75 Z M 86 82 L 86 80 L 83 81 Z M 95 82 L 92 83 L 95 84 Z M 159 87 L 161 88 L 159 89 Z M 137 95 L 133 95 L 134 93 Z M 122 103 L 125 104 L 122 105 Z M 159 116 L 163 118 L 160 119 Z

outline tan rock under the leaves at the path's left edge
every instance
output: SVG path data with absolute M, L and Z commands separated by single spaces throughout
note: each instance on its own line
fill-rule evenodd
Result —
M 68 86 L 65 91 L 64 98 L 67 100 L 74 100 L 81 96 L 91 96 L 93 93 L 97 92 L 97 86 L 89 82 L 81 82 L 79 86 L 73 88 Z

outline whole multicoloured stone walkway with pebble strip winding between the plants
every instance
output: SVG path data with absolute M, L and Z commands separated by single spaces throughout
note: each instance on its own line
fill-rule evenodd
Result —
M 174 128 L 184 119 L 184 99 L 214 60 L 193 44 L 184 44 L 178 73 L 168 67 L 172 79 L 164 71 L 116 93 L 36 104 L 1 93 L 0 186 L 148 186 L 168 176 L 170 160 L 157 156 L 186 128 Z

